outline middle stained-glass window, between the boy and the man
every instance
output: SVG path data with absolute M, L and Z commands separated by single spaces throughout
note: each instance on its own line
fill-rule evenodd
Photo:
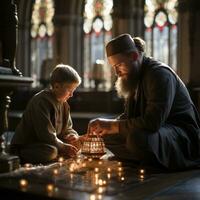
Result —
M 84 87 L 104 83 L 108 88 L 111 70 L 106 67 L 105 43 L 111 39 L 112 0 L 86 0 L 84 9 Z M 95 67 L 98 66 L 98 67 Z

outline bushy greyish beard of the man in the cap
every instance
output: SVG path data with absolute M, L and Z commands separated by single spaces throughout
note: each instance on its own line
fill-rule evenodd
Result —
M 138 73 L 130 72 L 127 78 L 118 77 L 115 82 L 115 89 L 119 97 L 127 99 L 134 96 L 138 85 Z

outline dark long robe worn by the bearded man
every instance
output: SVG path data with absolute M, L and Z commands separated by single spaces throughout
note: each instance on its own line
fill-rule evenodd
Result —
M 184 169 L 200 158 L 200 121 L 180 78 L 167 65 L 144 57 L 137 94 L 119 118 L 126 146 L 142 160 Z

